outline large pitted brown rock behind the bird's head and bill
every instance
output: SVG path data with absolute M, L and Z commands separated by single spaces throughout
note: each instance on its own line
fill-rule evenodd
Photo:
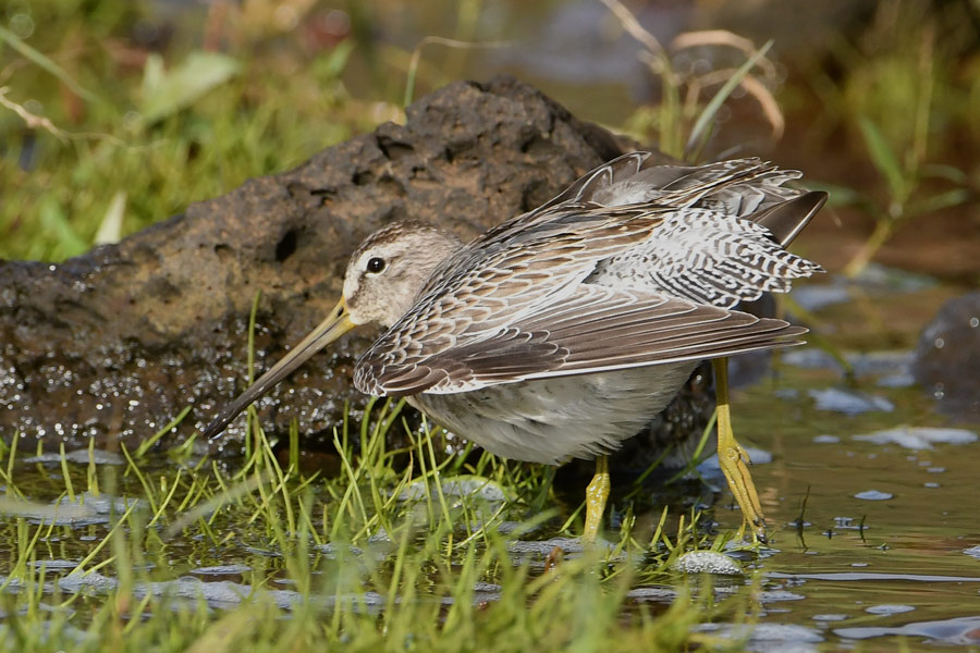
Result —
M 0 436 L 133 446 L 189 405 L 186 438 L 247 384 L 256 293 L 264 370 L 338 298 L 372 230 L 411 217 L 471 237 L 620 153 L 609 133 L 512 78 L 453 84 L 407 116 L 118 245 L 60 264 L 0 262 Z M 302 433 L 329 436 L 344 402 L 364 402 L 348 378 L 372 335 L 348 336 L 272 391 L 264 423 L 284 431 L 296 418 Z

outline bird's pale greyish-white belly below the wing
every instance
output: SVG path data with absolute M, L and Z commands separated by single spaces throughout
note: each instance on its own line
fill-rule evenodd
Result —
M 558 377 L 457 394 L 421 393 L 408 403 L 499 456 L 558 465 L 593 458 L 636 435 L 674 398 L 697 365 Z

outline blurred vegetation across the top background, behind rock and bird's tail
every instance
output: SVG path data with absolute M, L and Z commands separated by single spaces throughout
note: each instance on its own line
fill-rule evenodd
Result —
M 789 42 L 792 26 L 775 26 L 763 53 L 768 36 L 718 29 L 660 44 L 629 23 L 656 3 L 603 2 L 595 30 L 638 42 L 653 91 L 610 126 L 688 160 L 746 144 L 776 160 L 805 158 L 795 164 L 808 181 L 874 225 L 852 274 L 914 218 L 969 205 L 964 220 L 976 224 L 975 4 L 863 3 L 807 48 Z M 0 258 L 61 260 L 289 169 L 397 120 L 406 88 L 417 98 L 460 76 L 519 75 L 493 48 L 430 40 L 422 50 L 422 38 L 511 40 L 517 60 L 547 57 L 536 39 L 566 5 L 11 0 L 0 10 Z M 550 88 L 540 67 L 528 76 Z M 595 100 L 595 82 L 562 84 L 558 99 L 595 104 L 583 118 L 603 119 L 611 100 Z

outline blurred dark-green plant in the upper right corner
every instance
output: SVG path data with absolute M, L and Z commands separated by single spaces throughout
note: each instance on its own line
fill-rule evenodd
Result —
M 980 7 L 879 3 L 866 29 L 836 35 L 824 58 L 800 72 L 795 95 L 810 91 L 819 109 L 806 143 L 836 150 L 829 157 L 836 170 L 824 173 L 832 202 L 874 221 L 846 274 L 859 274 L 912 219 L 927 238 L 942 238 L 929 221 L 947 210 L 980 226 L 980 165 L 971 155 L 980 148 Z M 841 165 L 842 153 L 849 165 Z

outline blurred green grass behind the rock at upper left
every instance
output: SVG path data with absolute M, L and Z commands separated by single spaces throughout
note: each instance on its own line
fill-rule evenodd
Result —
M 132 233 L 373 126 L 341 82 L 348 41 L 284 48 L 199 5 L 154 23 L 146 4 L 2 10 L 0 258 L 85 251 L 119 192 Z

